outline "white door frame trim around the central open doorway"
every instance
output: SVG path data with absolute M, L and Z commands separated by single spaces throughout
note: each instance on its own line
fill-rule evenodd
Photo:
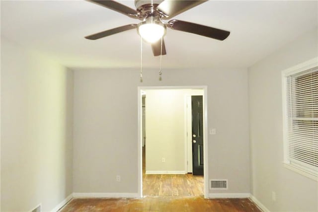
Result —
M 138 196 L 143 197 L 143 169 L 142 169 L 142 94 L 141 90 L 164 89 L 202 89 L 203 90 L 203 153 L 204 153 L 204 198 L 209 198 L 208 176 L 208 86 L 138 86 Z M 185 167 L 186 168 L 186 167 Z

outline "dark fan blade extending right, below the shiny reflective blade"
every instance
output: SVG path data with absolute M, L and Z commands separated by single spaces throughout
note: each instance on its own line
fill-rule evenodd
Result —
M 180 20 L 170 20 L 167 26 L 174 30 L 202 35 L 205 37 L 214 38 L 221 41 L 223 41 L 230 35 L 230 32 L 226 30 L 217 29 L 217 28 L 204 26 L 204 25 L 191 23 L 191 22 L 186 22 L 186 21 L 180 21 Z

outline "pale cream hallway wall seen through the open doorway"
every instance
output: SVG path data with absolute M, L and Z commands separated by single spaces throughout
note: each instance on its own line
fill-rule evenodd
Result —
M 146 173 L 186 173 L 185 97 L 203 95 L 203 90 L 154 89 L 146 93 Z

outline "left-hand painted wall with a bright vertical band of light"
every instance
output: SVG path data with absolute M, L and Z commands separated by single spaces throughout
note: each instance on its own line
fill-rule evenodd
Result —
M 73 72 L 1 37 L 1 212 L 72 193 Z

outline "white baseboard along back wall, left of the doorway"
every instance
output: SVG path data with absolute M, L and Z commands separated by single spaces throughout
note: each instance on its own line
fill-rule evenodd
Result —
M 138 193 L 73 193 L 73 198 L 139 198 Z

